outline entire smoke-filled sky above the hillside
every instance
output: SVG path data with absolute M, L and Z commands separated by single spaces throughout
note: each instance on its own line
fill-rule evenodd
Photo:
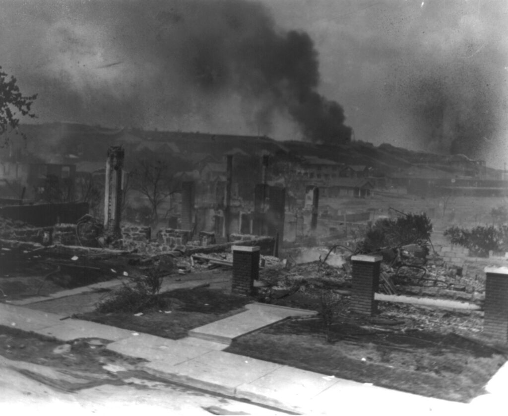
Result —
M 39 122 L 508 159 L 505 0 L 0 0 Z

